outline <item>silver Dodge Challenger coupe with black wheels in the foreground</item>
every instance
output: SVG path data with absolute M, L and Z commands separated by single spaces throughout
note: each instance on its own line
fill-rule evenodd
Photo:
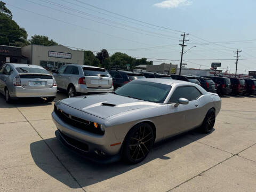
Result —
M 145 78 L 113 93 L 60 100 L 52 119 L 57 137 L 83 156 L 139 163 L 158 141 L 195 128 L 211 132 L 220 108 L 218 94 L 195 83 Z

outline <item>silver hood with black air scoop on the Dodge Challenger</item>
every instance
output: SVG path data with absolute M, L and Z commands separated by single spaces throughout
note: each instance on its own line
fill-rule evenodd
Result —
M 113 93 L 68 98 L 63 99 L 60 102 L 103 119 L 130 110 L 151 108 L 161 105 L 159 103 L 127 98 Z

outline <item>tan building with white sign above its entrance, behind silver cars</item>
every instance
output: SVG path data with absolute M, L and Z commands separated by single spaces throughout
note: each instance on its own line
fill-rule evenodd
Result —
M 38 65 L 47 70 L 59 69 L 66 64 L 84 65 L 84 52 L 69 49 L 63 45 L 28 45 L 21 49 L 30 65 Z

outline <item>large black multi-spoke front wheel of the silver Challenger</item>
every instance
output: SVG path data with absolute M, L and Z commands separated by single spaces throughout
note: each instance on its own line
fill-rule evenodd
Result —
M 132 164 L 142 162 L 154 145 L 154 132 L 148 123 L 135 125 L 126 135 L 123 146 L 124 161 Z

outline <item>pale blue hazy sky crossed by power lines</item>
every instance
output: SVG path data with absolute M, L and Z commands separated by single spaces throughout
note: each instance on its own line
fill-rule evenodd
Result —
M 189 68 L 235 73 L 256 70 L 255 0 L 3 0 L 28 38 L 46 35 L 59 44 L 109 54 L 148 58 L 154 65 L 183 63 Z M 194 47 L 195 46 L 195 47 Z M 150 58 L 150 59 L 149 59 Z M 245 72 L 246 70 L 246 72 Z

